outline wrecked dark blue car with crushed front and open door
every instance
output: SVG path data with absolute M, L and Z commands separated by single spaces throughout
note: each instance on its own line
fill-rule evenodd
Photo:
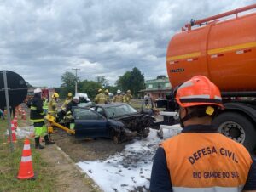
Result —
M 73 108 L 76 138 L 112 138 L 115 144 L 148 137 L 154 116 L 137 112 L 129 104 L 97 104 Z

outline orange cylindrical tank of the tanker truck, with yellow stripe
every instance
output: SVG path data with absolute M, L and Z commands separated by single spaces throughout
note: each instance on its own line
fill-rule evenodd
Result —
M 237 10 L 194 21 L 201 26 L 188 24 L 172 37 L 166 54 L 172 87 L 204 75 L 222 92 L 256 92 L 256 13 L 238 16 Z M 235 18 L 217 20 L 232 13 Z

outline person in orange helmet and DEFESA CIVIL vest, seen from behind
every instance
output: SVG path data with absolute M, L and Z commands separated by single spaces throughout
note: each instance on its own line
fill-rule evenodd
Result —
M 256 161 L 212 126 L 224 108 L 218 87 L 194 76 L 177 88 L 175 98 L 183 131 L 156 151 L 150 191 L 255 191 Z

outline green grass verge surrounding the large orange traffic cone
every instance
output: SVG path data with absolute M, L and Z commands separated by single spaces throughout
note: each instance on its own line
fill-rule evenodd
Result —
M 27 123 L 24 120 L 20 120 L 19 123 Z M 20 125 L 20 124 L 19 124 Z M 9 144 L 7 142 L 7 136 L 5 136 L 7 130 L 7 121 L 0 120 L 0 191 L 55 191 L 55 176 L 49 172 L 49 165 L 44 162 L 40 157 L 40 151 L 33 149 L 33 139 L 31 139 L 32 149 L 32 166 L 33 172 L 35 172 L 37 178 L 35 180 L 20 180 L 17 179 L 19 172 L 21 154 L 24 145 L 24 139 L 18 140 L 14 144 L 14 151 L 11 152 Z

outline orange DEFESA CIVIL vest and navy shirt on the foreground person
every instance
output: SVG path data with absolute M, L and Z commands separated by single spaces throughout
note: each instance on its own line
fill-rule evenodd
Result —
M 161 143 L 160 148 L 166 154 L 166 163 L 153 166 L 153 192 L 241 191 L 253 165 L 252 157 L 241 144 L 217 133 L 212 126 L 184 127 L 182 133 Z M 160 178 L 164 172 L 168 172 L 169 181 Z M 254 180 L 249 183 L 256 184 L 255 175 L 254 169 Z M 171 189 L 160 187 L 165 184 Z

